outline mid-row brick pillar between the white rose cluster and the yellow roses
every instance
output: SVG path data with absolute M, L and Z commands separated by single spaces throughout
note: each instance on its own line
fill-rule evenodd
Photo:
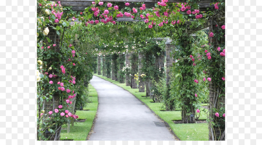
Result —
M 138 61 L 138 57 L 137 57 L 137 54 L 135 53 L 132 53 L 132 61 L 131 61 L 131 88 L 132 89 L 136 89 L 137 88 L 137 84 L 135 82 L 135 79 L 134 79 L 134 74 L 136 74 L 138 72 L 138 65 L 137 65 L 137 61 Z

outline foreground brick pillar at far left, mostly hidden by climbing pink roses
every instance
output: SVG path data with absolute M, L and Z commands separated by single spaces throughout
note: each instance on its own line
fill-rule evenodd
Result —
M 52 29 L 51 27 L 49 27 L 49 33 L 47 35 L 47 37 L 54 43 L 56 44 L 56 46 L 52 46 L 51 49 L 55 49 L 56 52 L 60 52 L 60 39 L 59 39 L 59 35 L 56 34 L 56 30 Z M 53 57 L 53 59 L 50 59 L 48 61 L 54 61 L 56 58 L 55 56 Z M 49 64 L 49 66 L 47 66 L 47 68 L 49 68 L 51 65 Z M 54 67 L 52 67 L 54 68 Z M 59 68 L 59 66 L 56 66 L 56 68 Z M 59 70 L 59 69 L 58 69 Z M 56 75 L 58 72 L 54 69 L 52 69 L 51 71 L 49 71 L 48 74 L 52 74 L 54 73 L 54 75 Z M 51 79 L 50 79 L 51 80 Z M 55 79 L 53 79 L 54 82 L 58 82 L 59 81 L 59 77 L 56 77 Z M 45 88 L 46 89 L 46 88 Z M 52 101 L 48 101 L 46 102 L 46 99 L 44 100 L 44 105 L 43 105 L 43 110 L 46 110 L 46 113 L 49 112 L 47 110 L 52 110 L 54 111 L 54 108 L 58 108 L 59 105 L 59 93 L 55 92 L 53 94 L 53 99 Z M 52 105 L 53 104 L 53 105 Z

